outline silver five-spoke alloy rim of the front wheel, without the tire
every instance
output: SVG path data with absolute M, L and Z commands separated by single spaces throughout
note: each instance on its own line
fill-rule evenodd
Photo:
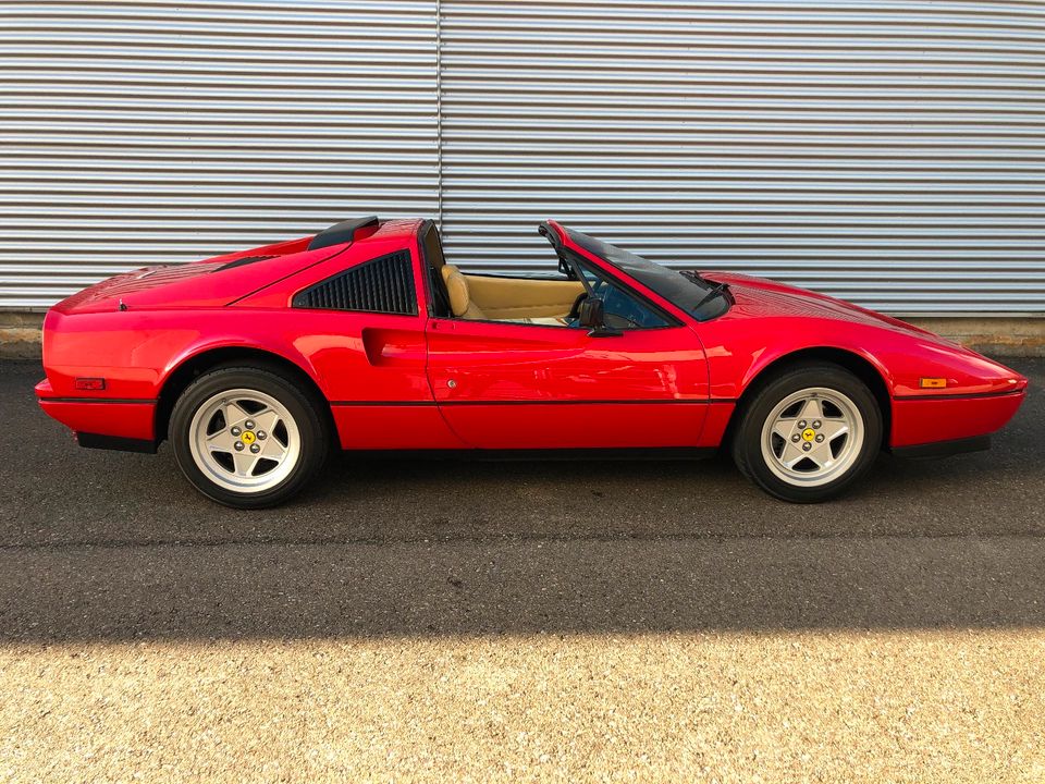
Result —
M 796 487 L 819 487 L 843 476 L 863 448 L 863 416 L 847 395 L 814 387 L 782 400 L 762 426 L 762 457 Z

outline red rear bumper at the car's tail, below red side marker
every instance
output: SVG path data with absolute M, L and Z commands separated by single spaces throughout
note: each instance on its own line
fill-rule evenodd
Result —
M 56 397 L 51 385 L 41 381 L 36 387 L 40 408 L 52 419 L 83 433 L 84 446 L 126 449 L 114 446 L 134 442 L 133 451 L 156 451 L 155 400 L 123 400 L 116 397 Z M 144 444 L 151 444 L 145 449 Z

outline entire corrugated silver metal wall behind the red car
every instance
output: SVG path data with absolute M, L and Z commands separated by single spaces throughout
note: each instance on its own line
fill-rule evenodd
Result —
M 0 120 L 0 308 L 377 211 L 1045 313 L 1042 3 L 5 0 Z

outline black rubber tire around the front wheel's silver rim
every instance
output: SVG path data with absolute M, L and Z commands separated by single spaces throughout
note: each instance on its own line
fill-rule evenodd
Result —
M 767 419 L 777 406 L 789 396 L 815 388 L 840 393 L 852 403 L 856 415 L 860 417 L 859 425 L 862 427 L 863 440 L 859 449 L 852 449 L 852 453 L 846 461 L 839 462 L 837 470 L 840 473 L 837 476 L 817 479 L 811 475 L 810 481 L 824 481 L 811 487 L 801 483 L 798 479 L 785 479 L 777 471 L 787 474 L 787 470 L 780 467 L 774 469 L 770 466 L 763 451 L 763 428 L 767 427 Z M 826 406 L 824 407 L 826 409 Z M 734 431 L 732 444 L 733 458 L 737 468 L 765 492 L 792 503 L 819 503 L 839 495 L 868 471 L 882 448 L 882 412 L 877 401 L 866 384 L 837 365 L 792 365 L 762 381 L 737 414 L 740 419 Z M 775 416 L 774 421 L 777 421 Z M 791 438 L 800 437 L 795 434 Z M 815 434 L 811 438 L 815 438 Z M 784 448 L 783 439 L 771 443 L 779 444 L 777 449 Z M 804 443 L 801 441 L 799 443 L 803 449 L 806 448 Z M 815 446 L 815 443 L 809 446 Z M 844 441 L 841 448 L 845 449 Z M 827 461 L 823 463 L 828 464 Z

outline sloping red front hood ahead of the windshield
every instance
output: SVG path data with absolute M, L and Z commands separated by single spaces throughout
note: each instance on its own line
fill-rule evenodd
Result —
M 700 275 L 706 280 L 728 284 L 729 292 L 736 298 L 735 307 L 742 310 L 745 316 L 826 318 L 881 327 L 922 340 L 931 339 L 946 345 L 957 345 L 929 330 L 852 303 L 835 299 L 826 294 L 736 272 L 701 272 Z

